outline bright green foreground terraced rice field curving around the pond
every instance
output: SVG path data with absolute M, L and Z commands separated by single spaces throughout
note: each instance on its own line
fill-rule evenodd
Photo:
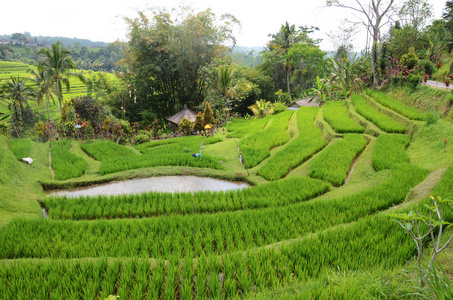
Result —
M 429 194 L 452 197 L 453 159 L 448 148 L 439 158 L 442 168 L 438 161 L 423 168 L 429 158 L 421 162 L 410 151 L 419 137 L 400 130 L 422 122 L 403 125 L 377 110 L 367 115 L 362 108 L 371 101 L 363 95 L 325 111 L 301 108 L 237 120 L 204 140 L 139 146 L 60 141 L 50 147 L 0 136 L 0 188 L 7 197 L 0 206 L 0 299 L 275 299 L 294 286 L 295 296 L 306 299 L 375 297 L 330 289 L 323 278 L 404 267 L 416 249 L 386 214 L 421 206 Z M 360 125 L 352 108 L 366 118 Z M 322 116 L 326 122 L 318 128 L 314 121 Z M 382 131 L 370 134 L 371 126 Z M 327 138 L 328 132 L 335 137 Z M 192 153 L 202 141 L 200 160 Z M 20 162 L 24 153 L 35 163 Z M 55 164 L 57 158 L 73 163 Z M 187 174 L 251 187 L 75 199 L 43 192 Z M 423 192 L 415 193 L 421 186 Z

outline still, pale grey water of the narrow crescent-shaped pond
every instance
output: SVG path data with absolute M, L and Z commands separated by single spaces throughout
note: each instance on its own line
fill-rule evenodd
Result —
M 163 176 L 133 179 L 127 181 L 112 182 L 88 188 L 76 190 L 60 190 L 52 192 L 51 196 L 96 196 L 96 195 L 119 195 L 139 194 L 144 192 L 197 192 L 197 191 L 229 191 L 247 188 L 244 182 L 232 182 L 207 177 L 197 176 Z

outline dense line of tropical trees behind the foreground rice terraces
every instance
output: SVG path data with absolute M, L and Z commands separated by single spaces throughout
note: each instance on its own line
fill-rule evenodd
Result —
M 353 45 L 357 26 L 345 23 L 328 35 L 335 47 L 328 53 L 312 37 L 318 28 L 285 22 L 269 34 L 259 62 L 244 66 L 232 55 L 234 32 L 240 26 L 234 16 L 190 7 L 154 9 L 125 19 L 126 43 L 95 52 L 80 45 L 63 47 L 71 62 L 67 74 L 76 68 L 115 71 L 119 81 L 114 85 L 102 74 L 85 80 L 87 94 L 108 107 L 112 117 L 143 126 L 158 119 L 163 125 L 165 117 L 184 106 L 202 111 L 208 101 L 215 118 L 225 122 L 268 103 L 284 107 L 302 97 L 343 100 L 365 87 L 417 85 L 436 71 L 439 75 L 442 58 L 452 50 L 451 0 L 442 18 L 433 21 L 432 6 L 425 0 L 407 0 L 398 7 L 394 0 L 326 4 L 355 11 L 358 19 L 353 22 L 369 31 L 370 46 L 357 53 Z M 48 60 L 45 51 L 36 51 L 35 65 Z M 450 69 L 453 73 L 453 66 Z M 62 83 L 57 84 L 57 77 L 50 92 L 61 106 Z

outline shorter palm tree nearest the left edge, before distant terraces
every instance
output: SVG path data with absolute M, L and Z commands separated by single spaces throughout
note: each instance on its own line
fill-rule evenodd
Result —
M 15 128 L 17 135 L 20 137 L 21 127 L 25 117 L 24 106 L 29 107 L 28 99 L 36 96 L 33 88 L 27 86 L 27 78 L 13 77 L 2 85 L 1 100 L 3 105 L 8 106 L 11 114 L 14 116 L 12 126 Z M 9 100 L 9 101 L 8 101 Z M 19 112 L 17 107 L 19 106 Z

